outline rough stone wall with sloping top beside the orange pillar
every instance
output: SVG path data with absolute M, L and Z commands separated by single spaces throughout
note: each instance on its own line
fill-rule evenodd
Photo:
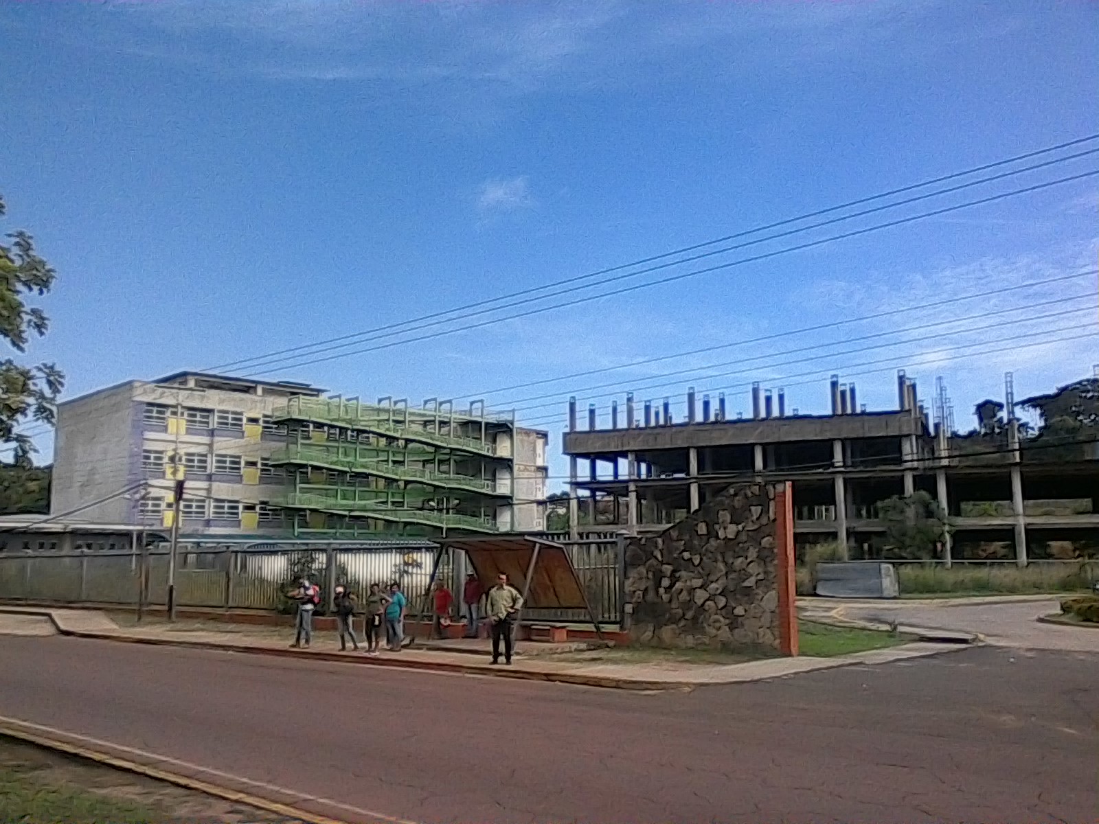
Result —
M 634 643 L 780 649 L 779 489 L 734 486 L 659 535 L 626 538 L 625 600 Z

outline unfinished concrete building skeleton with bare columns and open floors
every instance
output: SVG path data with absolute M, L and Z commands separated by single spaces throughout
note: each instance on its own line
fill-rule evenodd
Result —
M 586 430 L 569 402 L 564 450 L 570 465 L 569 522 L 575 533 L 668 525 L 730 483 L 762 479 L 793 486 L 799 547 L 837 541 L 852 558 L 881 557 L 879 502 L 923 490 L 950 515 L 941 557 L 1058 557 L 1099 548 L 1099 450 L 1092 441 L 1072 459 L 1020 438 L 1012 413 L 976 435 L 952 434 L 947 404 L 935 424 L 914 382 L 898 375 L 897 408 L 866 411 L 854 385 L 831 382 L 831 413 L 788 413 L 785 392 L 753 387 L 752 416 L 730 420 L 724 397 L 711 409 L 695 391 L 674 422 L 670 407 L 626 398 L 619 426 L 600 428 L 593 407 Z M 1008 410 L 1013 410 L 1010 402 Z M 1074 549 L 1075 547 L 1075 549 Z

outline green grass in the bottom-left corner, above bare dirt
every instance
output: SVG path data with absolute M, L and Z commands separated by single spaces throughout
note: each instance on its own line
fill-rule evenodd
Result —
M 19 824 L 154 824 L 149 810 L 43 782 L 30 769 L 0 767 L 0 822 Z

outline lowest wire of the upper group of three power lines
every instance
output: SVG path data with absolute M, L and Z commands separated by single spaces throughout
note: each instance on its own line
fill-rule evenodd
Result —
M 1012 190 L 1007 191 L 1007 192 L 1000 192 L 999 194 L 992 194 L 992 196 L 989 196 L 989 197 L 986 197 L 986 198 L 980 198 L 978 200 L 972 200 L 972 201 L 966 201 L 966 202 L 963 202 L 963 203 L 956 203 L 954 205 L 944 207 L 942 209 L 936 209 L 936 210 L 933 210 L 933 211 L 930 211 L 930 212 L 923 212 L 923 213 L 920 213 L 920 214 L 909 215 L 907 218 L 898 218 L 896 220 L 887 221 L 885 223 L 879 223 L 879 224 L 876 224 L 876 225 L 873 225 L 873 226 L 866 226 L 866 227 L 863 227 L 863 229 L 853 230 L 851 232 L 843 232 L 843 233 L 840 233 L 840 234 L 836 234 L 836 235 L 830 235 L 829 237 L 819 238 L 817 241 L 809 241 L 809 242 L 806 242 L 806 243 L 798 244 L 796 246 L 788 246 L 786 248 L 776 249 L 774 252 L 767 252 L 767 253 L 762 253 L 762 254 L 758 254 L 758 255 L 753 255 L 753 256 L 750 256 L 750 257 L 739 258 L 736 260 L 732 260 L 732 261 L 724 263 L 724 264 L 718 264 L 715 266 L 710 266 L 710 267 L 707 267 L 707 268 L 703 268 L 703 269 L 695 269 L 692 271 L 687 271 L 687 272 L 681 272 L 681 274 L 678 274 L 678 275 L 673 275 L 673 276 L 669 276 L 669 277 L 666 277 L 666 278 L 660 278 L 658 280 L 653 280 L 653 281 L 650 281 L 650 282 L 646 282 L 646 283 L 635 283 L 633 286 L 621 287 L 619 289 L 613 289 L 613 290 L 608 291 L 608 292 L 601 292 L 599 294 L 589 294 L 589 296 L 586 296 L 586 297 L 582 297 L 582 298 L 576 298 L 576 299 L 570 300 L 570 301 L 565 301 L 565 302 L 562 302 L 562 303 L 555 303 L 555 304 L 552 304 L 552 305 L 548 305 L 548 307 L 541 307 L 541 308 L 537 308 L 537 309 L 529 309 L 526 311 L 517 312 L 514 314 L 504 315 L 502 318 L 495 318 L 495 319 L 487 320 L 487 321 L 480 321 L 479 323 L 467 324 L 467 325 L 462 326 L 459 329 L 442 330 L 440 332 L 433 332 L 431 334 L 421 335 L 419 337 L 410 337 L 410 338 L 407 338 L 404 341 L 392 341 L 392 342 L 389 342 L 389 343 L 386 343 L 386 344 L 379 344 L 377 346 L 369 346 L 369 347 L 362 348 L 362 349 L 353 349 L 351 352 L 338 353 L 338 354 L 335 354 L 335 355 L 328 355 L 325 357 L 311 358 L 311 359 L 307 359 L 307 360 L 300 360 L 300 361 L 293 363 L 293 364 L 286 364 L 286 365 L 274 367 L 274 368 L 270 368 L 270 369 L 265 369 L 265 370 L 260 370 L 260 371 L 256 371 L 256 372 L 251 372 L 246 377 L 256 378 L 256 377 L 259 377 L 259 376 L 263 376 L 263 375 L 268 375 L 268 374 L 275 372 L 275 371 L 282 371 L 285 369 L 293 369 L 293 368 L 298 368 L 298 367 L 301 367 L 301 366 L 310 366 L 310 365 L 313 365 L 313 364 L 326 363 L 329 360 L 336 360 L 338 358 L 348 357 L 351 355 L 362 355 L 362 354 L 369 353 L 369 352 L 378 352 L 378 350 L 381 350 L 381 349 L 392 348 L 393 346 L 402 346 L 402 345 L 409 344 L 409 343 L 418 343 L 418 342 L 421 342 L 421 341 L 429 341 L 429 339 L 433 339 L 433 338 L 436 338 L 436 337 L 443 337 L 445 335 L 452 335 L 452 334 L 455 334 L 457 332 L 469 332 L 471 330 L 481 329 L 484 326 L 489 326 L 489 325 L 492 325 L 492 324 L 496 324 L 496 323 L 500 323 L 502 321 L 515 320 L 518 318 L 526 318 L 526 316 L 530 316 L 530 315 L 533 315 L 533 314 L 541 314 L 542 312 L 547 312 L 547 311 L 550 311 L 552 309 L 564 309 L 566 307 L 573 307 L 573 305 L 577 305 L 577 304 L 580 304 L 580 303 L 588 303 L 588 302 L 593 301 L 593 300 L 600 300 L 602 298 L 608 298 L 608 297 L 615 296 L 615 294 L 624 294 L 626 292 L 637 291 L 639 289 L 648 289 L 650 287 L 653 287 L 653 286 L 660 286 L 660 285 L 664 285 L 664 283 L 670 283 L 670 282 L 675 282 L 677 280 L 682 280 L 685 278 L 696 277 L 698 275 L 706 275 L 706 274 L 710 274 L 710 272 L 713 272 L 713 271 L 719 271 L 721 269 L 728 269 L 728 268 L 731 268 L 731 267 L 734 267 L 734 266 L 741 266 L 743 264 L 757 263 L 759 260 L 767 260 L 767 259 L 770 259 L 773 257 L 778 257 L 780 255 L 788 255 L 788 254 L 793 253 L 793 252 L 802 252 L 804 249 L 815 248 L 818 246 L 823 246 L 825 244 L 834 243 L 836 241 L 844 241 L 844 240 L 848 240 L 851 237 L 858 237 L 858 236 L 862 236 L 862 235 L 869 234 L 872 232 L 878 232 L 878 231 L 881 231 L 884 229 L 891 229 L 893 226 L 899 226 L 899 225 L 903 225 L 903 224 L 907 224 L 907 223 L 913 223 L 913 222 L 920 221 L 920 220 L 926 220 L 928 218 L 936 218 L 939 215 L 948 214 L 951 212 L 956 212 L 956 211 L 959 211 L 962 209 L 969 209 L 969 208 L 973 208 L 973 207 L 976 207 L 976 205 L 984 205 L 986 203 L 992 203 L 992 202 L 996 202 L 996 201 L 1006 200 L 1008 198 L 1018 197 L 1020 194 L 1028 194 L 1030 192 L 1041 191 L 1043 189 L 1048 189 L 1048 188 L 1051 188 L 1053 186 L 1061 186 L 1063 183 L 1074 182 L 1076 180 L 1083 180 L 1085 178 L 1095 177 L 1096 175 L 1099 175 L 1099 169 L 1094 169 L 1094 170 L 1080 172 L 1080 174 L 1077 174 L 1077 175 L 1069 175 L 1067 177 L 1058 178 L 1056 180 L 1048 180 L 1048 181 L 1045 181 L 1045 182 L 1042 182 L 1042 183 L 1035 183 L 1033 186 L 1028 186 L 1028 187 L 1024 187 L 1024 188 L 1021 188 L 1021 189 L 1012 189 Z

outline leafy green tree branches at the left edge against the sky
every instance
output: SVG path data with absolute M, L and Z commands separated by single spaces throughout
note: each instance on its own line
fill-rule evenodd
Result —
M 5 213 L 0 197 L 0 216 Z M 49 329 L 49 319 L 26 303 L 30 296 L 42 297 L 54 285 L 56 272 L 34 250 L 34 240 L 23 230 L 9 232 L 0 243 L 0 336 L 22 354 L 32 336 Z M 35 447 L 30 437 L 16 432 L 27 422 L 53 425 L 54 404 L 65 386 L 65 376 L 54 364 L 24 366 L 8 357 L 0 360 L 0 446 L 14 446 L 12 464 L 31 466 Z

